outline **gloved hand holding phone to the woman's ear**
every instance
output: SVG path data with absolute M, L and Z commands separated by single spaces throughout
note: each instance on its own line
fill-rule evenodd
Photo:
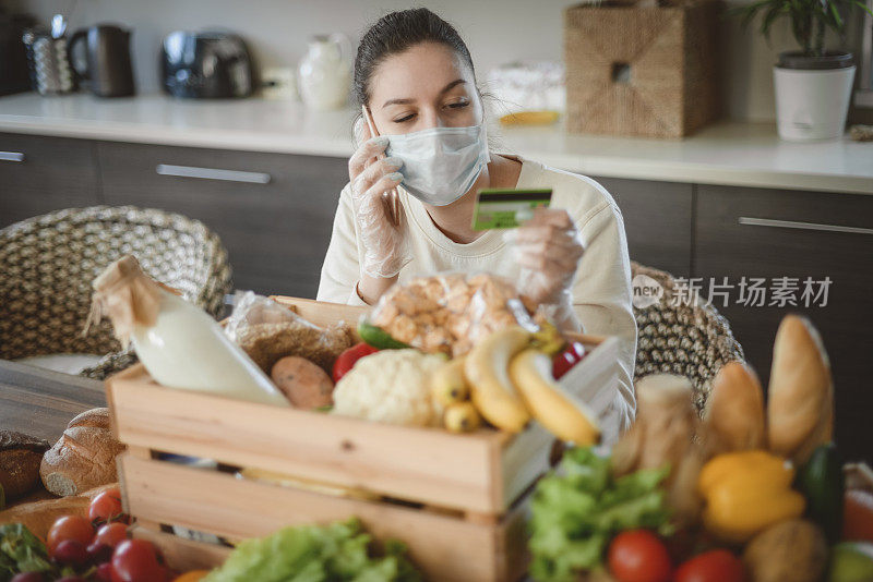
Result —
M 399 225 L 394 225 L 387 211 L 385 195 L 400 183 L 402 162 L 395 158 L 379 159 L 388 145 L 385 136 L 370 137 L 366 124 L 356 128 L 361 145 L 348 160 L 351 201 L 355 220 L 363 246 L 364 275 L 391 278 L 409 262 L 406 222 L 400 213 Z

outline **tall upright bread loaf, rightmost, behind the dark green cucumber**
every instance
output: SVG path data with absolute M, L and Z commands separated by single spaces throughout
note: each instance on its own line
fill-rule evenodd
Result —
M 834 383 L 818 331 L 787 315 L 773 344 L 767 431 L 773 452 L 805 462 L 834 433 Z

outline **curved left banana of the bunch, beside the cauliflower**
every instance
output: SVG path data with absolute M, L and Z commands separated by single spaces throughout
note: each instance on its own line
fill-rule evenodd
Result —
M 488 422 L 510 433 L 519 432 L 530 420 L 509 374 L 510 360 L 529 342 L 529 332 L 507 327 L 477 343 L 464 363 L 473 403 Z

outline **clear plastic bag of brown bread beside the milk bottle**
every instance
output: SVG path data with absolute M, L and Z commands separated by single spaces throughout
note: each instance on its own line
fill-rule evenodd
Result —
M 237 293 L 225 332 L 267 374 L 286 355 L 306 357 L 330 374 L 339 354 L 355 344 L 349 325 L 321 328 L 252 291 Z

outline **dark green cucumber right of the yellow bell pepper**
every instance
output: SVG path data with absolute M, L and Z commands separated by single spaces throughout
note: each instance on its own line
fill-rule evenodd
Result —
M 842 461 L 833 442 L 815 449 L 798 474 L 798 487 L 806 496 L 806 513 L 830 543 L 839 541 L 842 530 L 845 485 Z

